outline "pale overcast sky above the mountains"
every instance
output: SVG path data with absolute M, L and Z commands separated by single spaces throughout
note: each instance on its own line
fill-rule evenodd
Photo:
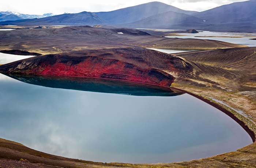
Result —
M 154 0 L 1 0 L 0 11 L 23 14 L 68 13 L 114 11 L 116 9 L 148 3 Z M 233 2 L 245 0 L 158 0 L 189 11 L 205 11 Z

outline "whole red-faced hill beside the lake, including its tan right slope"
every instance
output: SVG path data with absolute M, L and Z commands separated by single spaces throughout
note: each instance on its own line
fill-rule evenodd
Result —
M 170 86 L 174 81 L 234 89 L 242 74 L 146 48 L 109 48 L 41 55 L 7 63 L 0 72 L 88 77 Z

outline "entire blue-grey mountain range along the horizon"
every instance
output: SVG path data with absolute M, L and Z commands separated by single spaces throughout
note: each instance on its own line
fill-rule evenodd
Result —
M 256 0 L 237 2 L 203 12 L 185 11 L 160 2 L 150 2 L 110 12 L 65 13 L 39 19 L 12 21 L 3 17 L 1 25 L 64 25 L 94 26 L 95 24 L 131 28 L 196 29 L 206 31 L 256 32 Z M 0 19 L 2 18 L 0 15 Z M 10 17 L 10 16 L 9 16 Z M 11 17 L 10 17 L 11 18 Z M 24 18 L 24 17 L 23 17 Z

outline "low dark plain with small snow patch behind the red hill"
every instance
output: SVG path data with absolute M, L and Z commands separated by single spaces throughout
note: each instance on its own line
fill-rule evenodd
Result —
M 103 28 L 102 28 L 103 27 Z M 217 49 L 247 47 L 217 40 L 164 38 L 131 28 L 72 26 L 0 31 L 1 50 L 39 54 L 116 47 Z

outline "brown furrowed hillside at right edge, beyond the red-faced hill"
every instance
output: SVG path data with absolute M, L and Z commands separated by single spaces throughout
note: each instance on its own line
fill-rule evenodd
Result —
M 223 69 L 256 73 L 256 47 L 192 51 L 174 55 Z

